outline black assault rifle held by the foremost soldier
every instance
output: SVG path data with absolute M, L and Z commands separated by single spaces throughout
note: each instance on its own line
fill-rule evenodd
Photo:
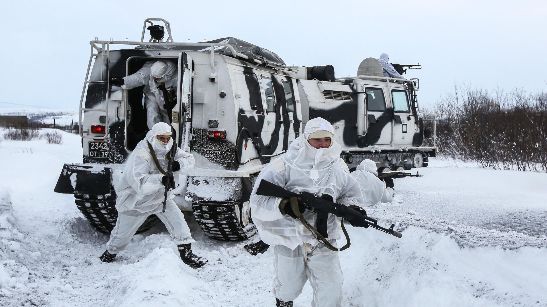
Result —
M 400 232 L 394 231 L 393 227 L 395 224 L 392 224 L 389 228 L 383 228 L 378 225 L 378 221 L 367 216 L 366 214 L 361 214 L 359 211 L 348 208 L 346 205 L 337 204 L 329 202 L 327 199 L 315 196 L 313 193 L 309 192 L 300 192 L 299 194 L 294 192 L 289 192 L 284 188 L 272 184 L 267 180 L 260 180 L 260 185 L 257 188 L 257 195 L 263 196 L 273 196 L 273 197 L 282 197 L 282 198 L 293 198 L 295 197 L 299 203 L 304 204 L 304 206 L 315 212 L 317 210 L 327 211 L 331 214 L 336 215 L 337 217 L 342 217 L 348 221 L 364 221 L 366 225 L 379 231 L 385 232 L 387 234 L 394 235 L 397 238 L 403 236 Z

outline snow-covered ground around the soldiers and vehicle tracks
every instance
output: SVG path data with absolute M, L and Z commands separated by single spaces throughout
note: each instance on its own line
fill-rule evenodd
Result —
M 205 267 L 184 265 L 162 225 L 102 263 L 108 237 L 53 192 L 62 164 L 82 161 L 80 138 L 61 133 L 60 145 L 0 143 L 0 306 L 275 305 L 271 251 L 209 239 L 191 215 Z M 403 238 L 348 229 L 342 306 L 547 306 L 547 174 L 433 158 L 418 171 L 395 180 L 393 203 L 367 209 Z M 295 306 L 311 299 L 306 286 Z

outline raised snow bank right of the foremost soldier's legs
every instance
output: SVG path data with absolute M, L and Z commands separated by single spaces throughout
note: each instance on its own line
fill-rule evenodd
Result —
M 352 232 L 356 238 L 356 229 Z M 547 267 L 538 265 L 547 259 L 547 249 L 462 248 L 452 235 L 416 227 L 406 229 L 401 239 L 371 230 L 360 235 L 340 254 L 343 306 L 547 303 Z

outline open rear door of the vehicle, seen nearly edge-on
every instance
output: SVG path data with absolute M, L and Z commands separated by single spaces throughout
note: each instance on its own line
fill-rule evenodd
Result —
M 177 144 L 182 150 L 191 150 L 192 130 L 192 58 L 185 52 L 178 56 L 177 105 L 173 108 L 171 125 L 175 131 Z

